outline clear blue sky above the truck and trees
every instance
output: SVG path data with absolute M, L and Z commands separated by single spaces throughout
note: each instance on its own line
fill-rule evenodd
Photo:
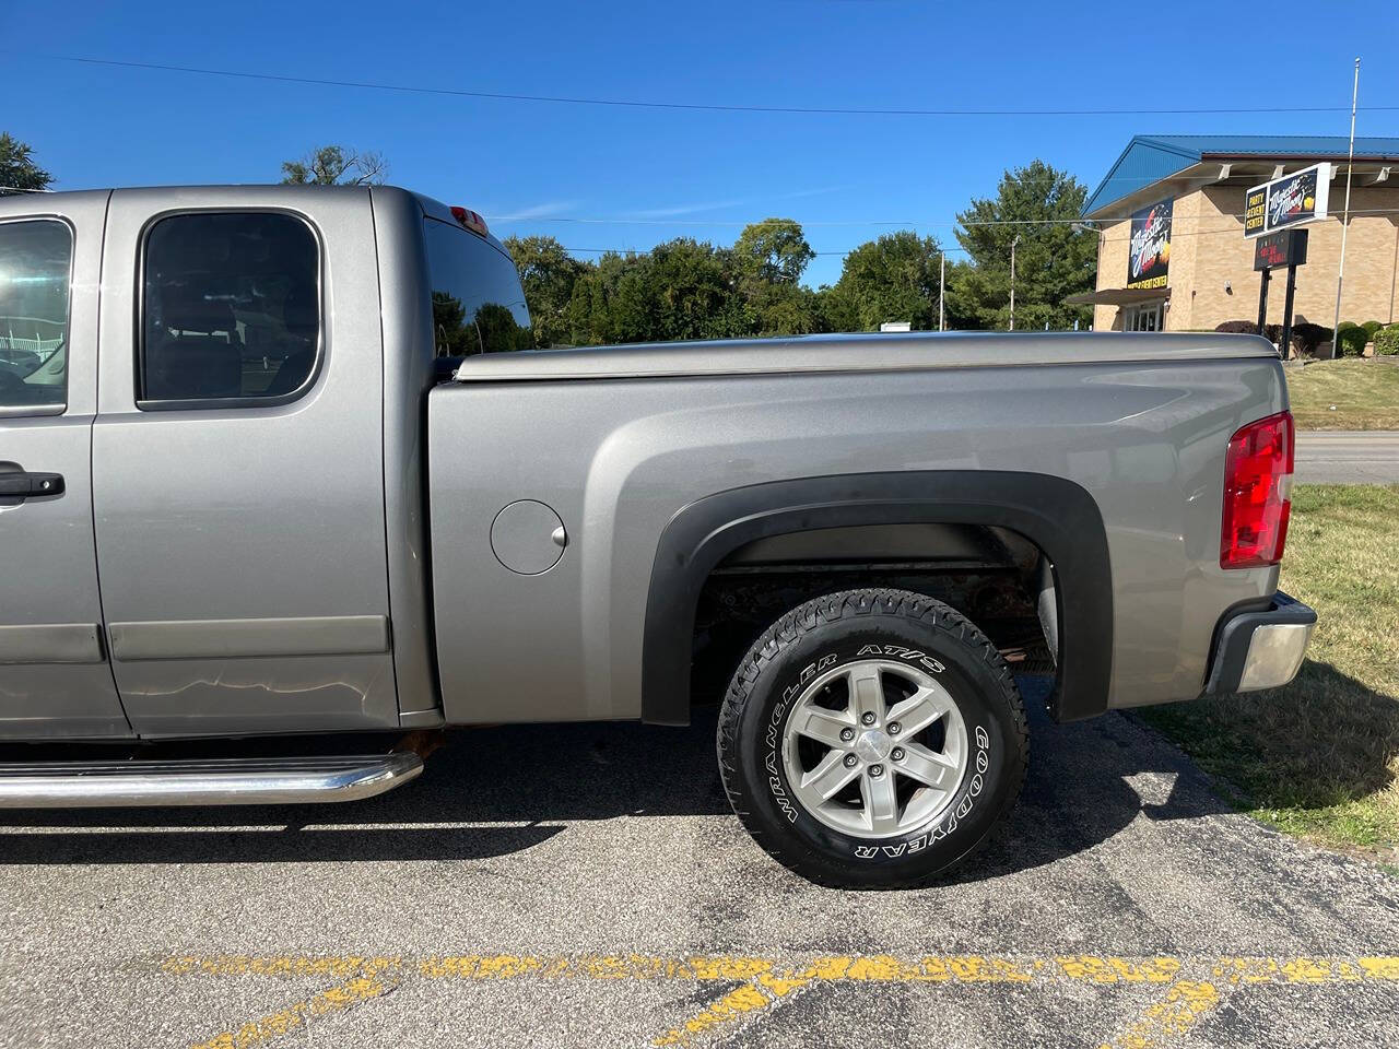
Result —
M 1325 10 L 1325 15 L 1315 11 Z M 1249 13 L 1258 15 L 1249 20 Z M 802 221 L 831 283 L 894 228 L 956 213 L 1041 157 L 1090 189 L 1135 133 L 1344 134 L 1347 113 L 870 116 L 691 112 L 406 94 L 55 60 L 618 101 L 900 109 L 1349 106 L 1399 134 L 1399 4 L 53 3 L 0 0 L 0 130 L 59 187 L 274 182 L 318 143 L 494 232 L 588 249 L 729 243 Z M 20 46 L 22 45 L 22 46 Z M 1358 49 L 1358 50 L 1357 50 Z M 1364 112 L 1364 106 L 1391 106 Z M 512 218 L 513 217 L 513 218 Z M 603 220 L 603 221 L 562 221 Z M 620 221 L 618 221 L 620 220 Z

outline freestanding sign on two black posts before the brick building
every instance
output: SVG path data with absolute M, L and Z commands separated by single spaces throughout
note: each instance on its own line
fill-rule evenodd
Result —
M 1244 236 L 1256 238 L 1254 269 L 1262 273 L 1258 290 L 1258 330 L 1267 322 L 1267 284 L 1272 270 L 1287 267 L 1287 297 L 1283 301 L 1283 337 L 1279 355 L 1287 357 L 1293 341 L 1293 298 L 1297 267 L 1307 262 L 1307 229 L 1326 218 L 1330 196 L 1330 164 L 1314 164 L 1280 179 L 1254 186 L 1244 196 Z M 1335 345 L 1335 343 L 1332 343 Z

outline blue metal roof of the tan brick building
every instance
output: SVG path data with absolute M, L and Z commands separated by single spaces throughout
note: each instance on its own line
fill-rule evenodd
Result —
M 1205 155 L 1330 159 L 1349 151 L 1350 140 L 1343 134 L 1139 134 L 1093 190 L 1081 214 L 1185 171 Z M 1399 138 L 1357 137 L 1356 157 L 1399 159 Z

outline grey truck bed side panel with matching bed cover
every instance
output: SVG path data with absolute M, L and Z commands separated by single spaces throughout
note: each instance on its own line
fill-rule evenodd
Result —
M 448 720 L 641 716 L 648 585 L 679 511 L 741 485 L 902 470 L 1027 471 L 1086 488 L 1112 559 L 1105 705 L 1199 694 L 1221 611 L 1276 587 L 1276 569 L 1226 572 L 1217 559 L 1224 449 L 1238 427 L 1286 407 L 1276 355 L 1248 338 L 1177 340 L 1179 355 L 1139 336 L 884 338 L 810 340 L 827 351 L 820 372 L 796 364 L 796 373 L 697 375 L 702 347 L 669 359 L 655 350 L 565 351 L 470 361 L 466 382 L 434 389 L 434 596 Z M 1021 340 L 1058 362 L 1013 372 L 963 364 L 1013 357 Z M 769 345 L 792 359 L 807 341 Z M 933 359 L 946 350 L 956 364 L 909 368 L 911 347 Z M 754 348 L 761 358 L 764 347 Z M 863 354 L 884 351 L 904 359 L 862 371 Z M 579 378 L 589 372 L 578 357 L 604 368 L 609 352 L 637 355 L 625 366 L 642 378 Z M 656 373 L 667 365 L 679 373 Z M 485 373 L 501 379 L 477 380 Z M 564 557 L 540 575 L 492 555 L 491 523 L 518 499 L 551 506 L 568 531 Z

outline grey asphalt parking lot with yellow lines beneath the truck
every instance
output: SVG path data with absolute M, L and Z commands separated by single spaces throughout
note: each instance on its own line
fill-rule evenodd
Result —
M 712 733 L 463 730 L 346 807 L 0 813 L 0 1045 L 1399 1046 L 1399 878 L 1128 718 L 1037 716 L 1006 835 L 888 894 L 776 867 Z

